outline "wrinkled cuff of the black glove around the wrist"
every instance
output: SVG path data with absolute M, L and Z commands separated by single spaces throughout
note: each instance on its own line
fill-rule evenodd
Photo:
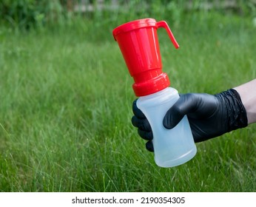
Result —
M 228 119 L 226 132 L 248 126 L 246 109 L 235 89 L 228 89 L 215 96 L 222 102 L 222 106 L 226 106 L 226 118 Z

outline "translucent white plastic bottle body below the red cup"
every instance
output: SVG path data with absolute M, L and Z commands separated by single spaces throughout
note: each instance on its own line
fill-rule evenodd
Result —
M 197 152 L 186 116 L 173 129 L 166 129 L 163 125 L 164 115 L 178 98 L 178 91 L 167 87 L 154 94 L 141 96 L 137 101 L 138 109 L 144 113 L 152 128 L 155 163 L 161 167 L 186 163 Z

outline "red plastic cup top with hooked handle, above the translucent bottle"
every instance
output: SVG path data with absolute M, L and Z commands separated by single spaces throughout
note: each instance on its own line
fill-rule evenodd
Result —
M 129 21 L 112 31 L 129 74 L 134 78 L 132 88 L 137 96 L 150 95 L 170 85 L 168 76 L 162 72 L 157 33 L 159 27 L 166 29 L 172 44 L 178 49 L 179 45 L 166 21 L 143 18 Z

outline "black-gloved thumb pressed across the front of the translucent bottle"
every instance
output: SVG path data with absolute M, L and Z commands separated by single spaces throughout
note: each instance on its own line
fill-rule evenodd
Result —
M 178 101 L 166 112 L 163 124 L 166 129 L 174 128 L 189 112 L 195 111 L 197 100 L 195 94 L 188 93 L 181 95 Z

